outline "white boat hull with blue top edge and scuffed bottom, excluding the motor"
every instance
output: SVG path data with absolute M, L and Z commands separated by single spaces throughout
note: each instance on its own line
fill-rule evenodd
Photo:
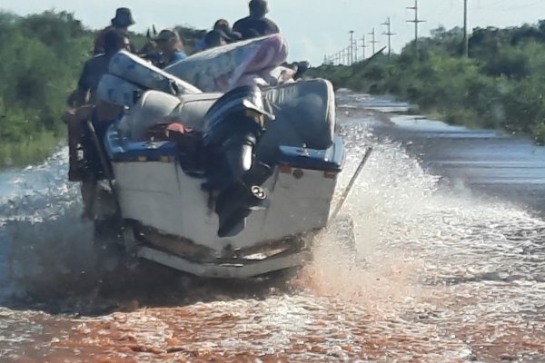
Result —
M 125 150 L 117 160 L 113 154 L 125 243 L 136 255 L 224 279 L 251 278 L 312 258 L 312 240 L 328 223 L 341 170 L 341 139 L 328 151 L 314 151 L 335 168 L 317 168 L 309 150 L 286 152 L 263 184 L 268 207 L 253 211 L 241 233 L 225 238 L 218 237 L 219 219 L 210 193 L 202 189 L 203 178 L 184 171 L 168 146 L 150 145 L 152 152 L 146 154 Z M 306 156 L 298 158 L 298 152 Z

